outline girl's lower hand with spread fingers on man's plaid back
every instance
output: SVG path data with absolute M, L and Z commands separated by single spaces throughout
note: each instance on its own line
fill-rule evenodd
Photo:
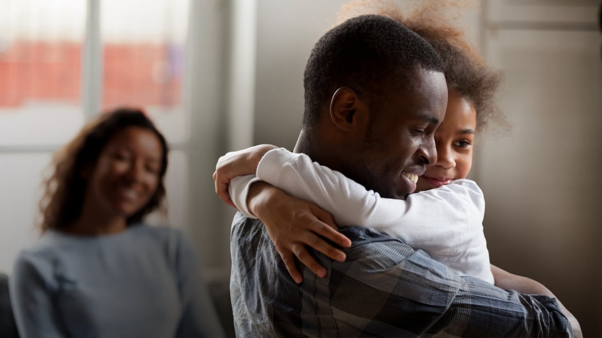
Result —
M 303 277 L 295 265 L 294 256 L 318 277 L 326 276 L 326 269 L 309 254 L 306 245 L 331 259 L 340 262 L 346 259 L 343 251 L 320 236 L 344 248 L 350 247 L 351 241 L 337 231 L 332 215 L 316 204 L 291 197 L 265 182 L 255 182 L 250 186 L 247 204 L 249 210 L 265 224 L 270 239 L 296 283 L 301 283 Z

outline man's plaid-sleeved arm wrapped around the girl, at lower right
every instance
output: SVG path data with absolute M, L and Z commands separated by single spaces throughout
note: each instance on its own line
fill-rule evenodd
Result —
M 552 298 L 459 277 L 422 251 L 368 228 L 341 232 L 353 246 L 345 250 L 346 262 L 332 262 L 329 289 L 343 336 L 383 330 L 385 336 L 573 337 Z

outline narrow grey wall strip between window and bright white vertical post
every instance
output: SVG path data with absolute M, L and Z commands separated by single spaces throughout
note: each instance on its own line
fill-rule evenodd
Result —
M 230 221 L 227 207 L 214 192 L 213 171 L 226 150 L 225 55 L 229 36 L 228 4 L 191 1 L 185 105 L 190 111 L 189 223 L 202 263 L 209 270 L 229 269 Z M 229 218 L 229 219 L 228 219 Z

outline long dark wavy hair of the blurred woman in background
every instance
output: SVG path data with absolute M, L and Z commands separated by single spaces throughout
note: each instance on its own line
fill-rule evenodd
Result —
M 117 132 L 129 127 L 144 128 L 157 135 L 163 155 L 157 191 L 144 207 L 128 217 L 126 224 L 140 223 L 144 216 L 163 206 L 163 177 L 167 170 L 165 138 L 141 109 L 119 108 L 101 114 L 98 119 L 84 126 L 67 146 L 55 154 L 51 164 L 54 171 L 44 183 L 45 192 L 40 201 L 42 232 L 48 229 L 69 230 L 81 214 L 84 203 L 87 181 L 82 173 L 86 168 L 96 166 L 102 150 Z

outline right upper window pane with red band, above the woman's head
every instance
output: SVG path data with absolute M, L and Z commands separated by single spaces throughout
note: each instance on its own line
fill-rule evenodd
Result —
M 187 10 L 188 0 L 103 0 L 100 8 L 102 107 L 144 106 L 172 143 L 187 140 Z

